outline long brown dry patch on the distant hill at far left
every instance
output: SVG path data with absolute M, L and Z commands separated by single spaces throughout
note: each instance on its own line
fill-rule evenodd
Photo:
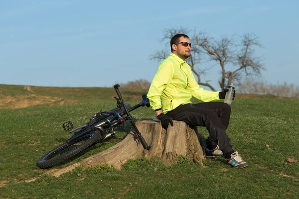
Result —
M 77 100 L 63 99 L 52 96 L 39 96 L 35 94 L 4 96 L 0 98 L 0 108 L 24 108 L 35 105 L 72 105 L 77 104 Z

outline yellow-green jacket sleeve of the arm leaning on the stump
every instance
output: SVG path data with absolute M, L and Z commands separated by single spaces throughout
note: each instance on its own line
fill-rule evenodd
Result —
M 173 77 L 173 68 L 170 62 L 162 62 L 158 68 L 157 73 L 153 77 L 153 80 L 149 87 L 149 93 L 147 97 L 149 98 L 149 104 L 152 109 L 160 109 L 161 99 L 160 96 L 163 90 L 167 87 Z

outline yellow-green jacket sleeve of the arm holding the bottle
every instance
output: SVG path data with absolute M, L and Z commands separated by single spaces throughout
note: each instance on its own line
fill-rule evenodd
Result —
M 188 72 L 188 87 L 187 90 L 189 90 L 194 98 L 197 98 L 198 100 L 202 100 L 204 102 L 207 101 L 214 101 L 219 100 L 219 92 L 213 92 L 213 91 L 207 91 L 203 88 L 200 88 L 197 84 L 194 75 L 190 69 Z

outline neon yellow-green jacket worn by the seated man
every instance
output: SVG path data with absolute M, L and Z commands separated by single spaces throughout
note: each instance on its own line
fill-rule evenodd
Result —
M 171 53 L 161 62 L 147 97 L 152 109 L 162 108 L 165 114 L 181 104 L 191 103 L 192 96 L 205 102 L 219 100 L 218 93 L 199 88 L 190 66 Z

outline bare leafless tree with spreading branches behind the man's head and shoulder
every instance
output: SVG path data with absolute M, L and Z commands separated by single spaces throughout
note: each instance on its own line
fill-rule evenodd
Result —
M 172 36 L 178 33 L 189 35 L 190 30 L 185 28 L 180 29 L 164 29 L 164 36 L 161 40 L 167 40 L 168 43 Z M 191 56 L 186 60 L 190 65 L 194 76 L 197 77 L 197 83 L 202 86 L 209 87 L 212 91 L 216 91 L 210 81 L 203 82 L 201 76 L 204 75 L 210 68 L 203 68 L 203 60 L 207 62 L 215 62 L 220 66 L 220 78 L 218 84 L 222 90 L 232 83 L 242 79 L 244 76 L 259 76 L 261 70 L 264 70 L 262 58 L 255 56 L 255 46 L 262 47 L 258 41 L 258 37 L 252 34 L 244 34 L 241 37 L 241 42 L 238 43 L 236 36 L 231 38 L 222 36 L 219 40 L 208 36 L 204 32 L 194 33 L 190 37 L 190 42 L 193 44 L 191 48 Z M 170 45 L 169 49 L 170 49 Z M 165 50 L 157 51 L 151 55 L 151 59 L 161 61 L 165 59 L 169 53 Z M 199 68 L 199 66 L 201 66 Z M 233 70 L 228 70 L 233 68 Z

